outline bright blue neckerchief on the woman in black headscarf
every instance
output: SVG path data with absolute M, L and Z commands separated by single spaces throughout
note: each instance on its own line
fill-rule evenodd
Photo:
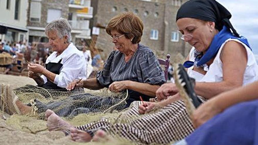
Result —
M 195 66 L 204 66 L 206 64 L 206 62 L 208 62 L 209 60 L 211 60 L 219 51 L 221 45 L 226 41 L 228 40 L 229 38 L 233 38 L 233 39 L 238 39 L 240 40 L 241 42 L 245 43 L 245 45 L 247 45 L 250 49 L 251 47 L 249 46 L 249 43 L 247 41 L 247 39 L 243 36 L 241 36 L 240 38 L 239 37 L 236 37 L 234 36 L 230 29 L 227 28 L 225 25 L 223 26 L 223 29 L 214 36 L 212 42 L 211 42 L 211 45 L 210 47 L 208 48 L 207 52 L 203 55 L 203 56 L 199 56 L 199 57 L 196 57 L 195 56 L 195 60 L 194 62 L 192 61 L 186 61 L 184 62 L 184 67 L 185 68 L 189 68 L 193 65 Z M 252 50 L 252 49 L 251 49 Z M 200 52 L 199 52 L 200 53 Z M 196 54 L 196 52 L 195 52 Z

